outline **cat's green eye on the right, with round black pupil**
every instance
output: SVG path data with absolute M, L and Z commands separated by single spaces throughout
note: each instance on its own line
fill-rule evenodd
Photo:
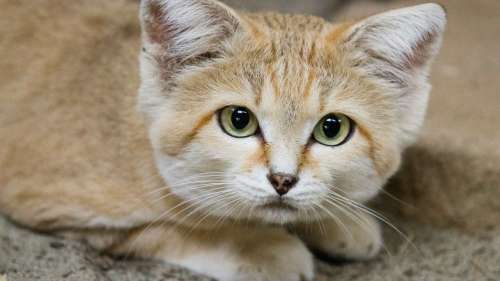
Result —
M 343 114 L 330 113 L 323 117 L 314 128 L 314 139 L 324 145 L 343 144 L 352 132 L 352 121 Z

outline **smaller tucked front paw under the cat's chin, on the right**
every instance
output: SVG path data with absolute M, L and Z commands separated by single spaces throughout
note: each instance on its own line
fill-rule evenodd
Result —
M 310 249 L 337 261 L 373 258 L 383 243 L 379 223 L 365 213 L 302 224 L 294 231 Z

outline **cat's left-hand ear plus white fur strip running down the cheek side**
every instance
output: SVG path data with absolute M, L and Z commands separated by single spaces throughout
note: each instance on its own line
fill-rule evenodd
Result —
M 213 0 L 141 0 L 140 20 L 139 110 L 150 122 L 163 112 L 171 78 L 222 53 L 240 20 Z

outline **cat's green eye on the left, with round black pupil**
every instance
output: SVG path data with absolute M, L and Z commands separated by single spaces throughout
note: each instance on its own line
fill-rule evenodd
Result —
M 243 106 L 224 107 L 219 113 L 219 123 L 224 132 L 235 138 L 254 135 L 259 128 L 255 115 Z

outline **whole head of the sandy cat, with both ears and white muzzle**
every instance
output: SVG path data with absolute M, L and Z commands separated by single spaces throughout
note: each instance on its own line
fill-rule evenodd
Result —
M 445 22 L 436 4 L 332 24 L 143 0 L 139 108 L 170 192 L 271 223 L 372 198 L 422 124 Z

